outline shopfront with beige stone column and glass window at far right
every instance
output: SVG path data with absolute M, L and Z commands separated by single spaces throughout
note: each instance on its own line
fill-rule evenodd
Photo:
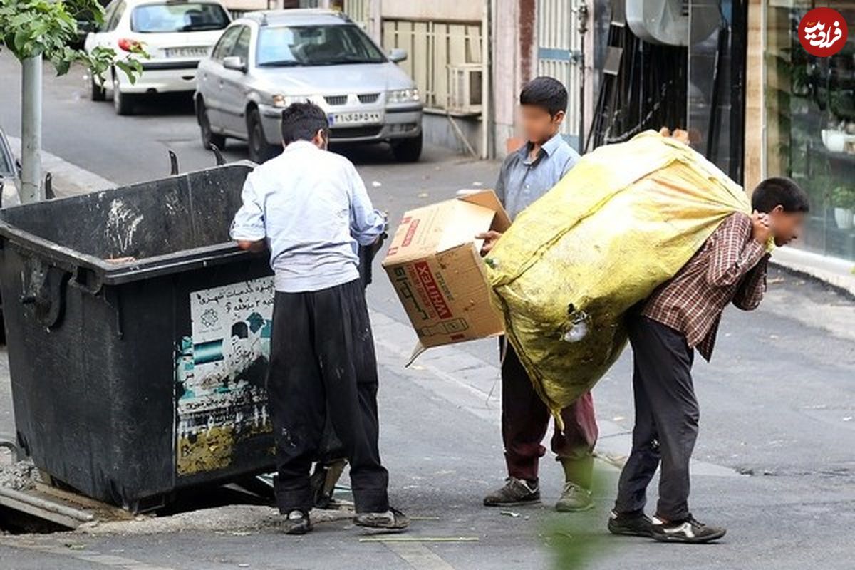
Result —
M 836 9 L 850 26 L 837 55 L 815 57 L 801 46 L 808 10 Z M 758 120 L 746 128 L 752 181 L 788 176 L 811 197 L 811 217 L 798 247 L 855 261 L 855 2 L 755 0 L 755 41 L 747 105 Z

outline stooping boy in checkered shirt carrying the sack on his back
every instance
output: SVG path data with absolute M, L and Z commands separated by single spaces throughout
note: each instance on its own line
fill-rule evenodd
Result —
M 757 309 L 766 289 L 766 244 L 799 237 L 808 197 L 793 180 L 770 178 L 752 194 L 754 214 L 732 214 L 681 270 L 628 317 L 633 346 L 635 426 L 623 467 L 614 534 L 661 542 L 707 543 L 725 529 L 705 526 L 688 508 L 689 459 L 698 437 L 699 408 L 692 383 L 693 349 L 709 361 L 728 303 Z M 646 488 L 660 460 L 659 502 L 646 517 Z

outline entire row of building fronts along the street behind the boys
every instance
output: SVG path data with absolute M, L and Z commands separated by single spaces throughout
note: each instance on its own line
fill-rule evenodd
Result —
M 811 195 L 797 247 L 855 260 L 855 30 L 836 56 L 801 49 L 808 9 L 855 26 L 855 0 L 300 0 L 344 9 L 402 66 L 425 135 L 482 158 L 522 144 L 517 97 L 537 75 L 568 87 L 563 134 L 581 150 L 680 127 L 750 189 L 789 176 Z M 657 26 L 646 10 L 669 10 Z M 581 136 L 580 136 L 580 133 Z

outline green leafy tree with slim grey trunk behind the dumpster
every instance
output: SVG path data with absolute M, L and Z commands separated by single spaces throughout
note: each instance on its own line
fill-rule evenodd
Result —
M 91 69 L 103 83 L 112 67 L 127 73 L 133 82 L 142 71 L 136 56 L 119 58 L 115 50 L 98 47 L 87 54 L 69 44 L 77 38 L 77 15 L 90 15 L 100 24 L 103 8 L 97 0 L 0 0 L 0 49 L 12 52 L 21 62 L 21 202 L 43 199 L 41 185 L 41 75 L 47 60 L 57 75 L 68 73 L 75 62 Z

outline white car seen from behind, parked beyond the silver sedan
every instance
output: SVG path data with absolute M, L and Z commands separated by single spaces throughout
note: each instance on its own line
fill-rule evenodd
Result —
M 149 57 L 138 58 L 143 73 L 133 84 L 118 68 L 110 71 L 103 87 L 92 78 L 92 101 L 103 101 L 112 91 L 115 112 L 130 115 L 134 97 L 193 91 L 199 60 L 229 21 L 217 0 L 113 0 L 102 28 L 86 37 L 84 49 L 112 48 L 122 58 L 139 47 Z

